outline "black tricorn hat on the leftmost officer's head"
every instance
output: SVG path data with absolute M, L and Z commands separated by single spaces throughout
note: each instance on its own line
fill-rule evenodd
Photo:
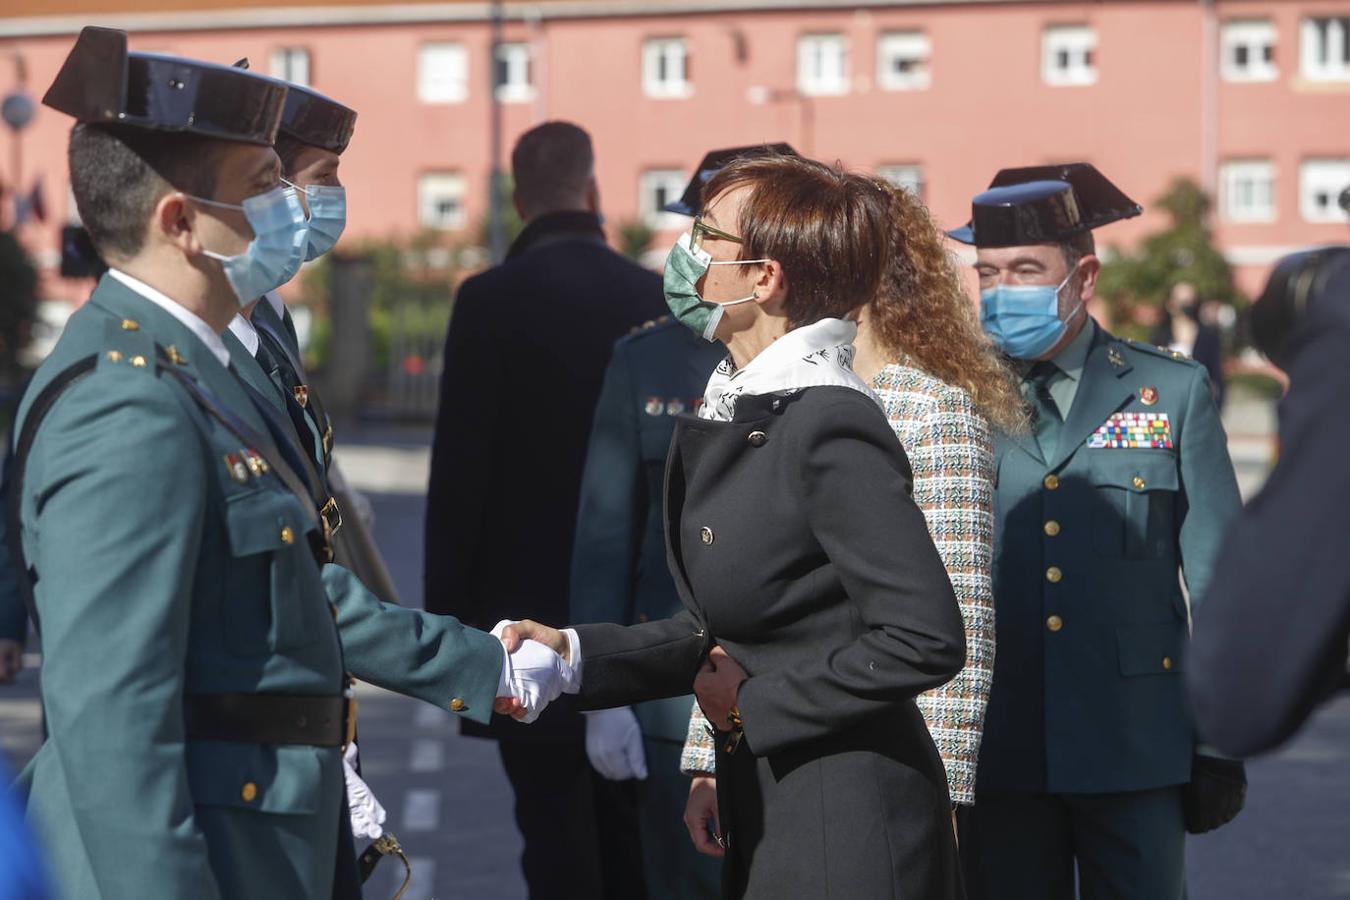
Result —
M 80 121 L 270 147 L 286 84 L 231 66 L 128 53 L 127 32 L 86 27 L 42 103 Z

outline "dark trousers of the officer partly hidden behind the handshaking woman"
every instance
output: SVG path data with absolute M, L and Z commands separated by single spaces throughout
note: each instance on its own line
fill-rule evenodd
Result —
M 717 900 L 722 861 L 694 849 L 684 827 L 690 777 L 679 770 L 682 742 L 645 738 L 647 780 L 640 781 L 643 866 L 651 900 Z

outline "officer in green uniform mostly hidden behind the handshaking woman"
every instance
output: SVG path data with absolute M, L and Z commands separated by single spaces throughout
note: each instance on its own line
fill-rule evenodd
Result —
M 666 212 L 695 216 L 703 185 L 737 158 L 796 155 L 787 144 L 732 147 L 703 157 Z M 662 497 L 676 417 L 702 403 L 726 348 L 670 316 L 614 344 L 591 421 L 572 545 L 571 619 L 633 625 L 680 610 L 666 567 Z M 716 897 L 718 865 L 694 850 L 680 824 L 688 779 L 680 749 L 693 698 L 586 714 L 586 753 L 605 779 L 644 779 L 639 795 L 648 896 Z M 636 718 L 634 718 L 636 712 Z

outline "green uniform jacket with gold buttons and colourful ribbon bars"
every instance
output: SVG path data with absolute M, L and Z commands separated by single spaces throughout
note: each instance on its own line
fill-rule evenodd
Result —
M 1161 445 L 1095 447 L 1131 421 Z M 1053 459 L 1031 434 L 999 436 L 995 457 L 999 646 L 979 789 L 1189 781 L 1179 569 L 1204 596 L 1241 506 L 1204 367 L 1098 328 Z

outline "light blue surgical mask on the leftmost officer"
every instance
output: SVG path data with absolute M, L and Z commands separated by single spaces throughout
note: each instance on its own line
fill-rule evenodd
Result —
M 240 308 L 277 290 L 300 271 L 305 262 L 305 209 L 300 205 L 294 188 L 278 185 L 242 204 L 186 196 L 208 206 L 238 209 L 252 228 L 254 237 L 242 254 L 225 256 L 202 251 L 207 258 L 220 262 Z

